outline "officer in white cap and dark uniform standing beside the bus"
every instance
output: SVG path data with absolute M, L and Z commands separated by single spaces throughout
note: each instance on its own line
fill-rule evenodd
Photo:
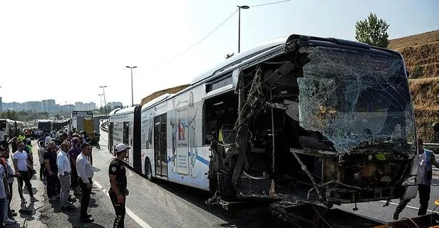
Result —
M 116 157 L 111 161 L 108 167 L 108 174 L 110 175 L 110 195 L 111 203 L 113 204 L 116 218 L 113 227 L 124 227 L 125 219 L 125 197 L 129 194 L 127 189 L 127 176 L 125 167 L 123 166 L 123 158 L 127 156 L 128 149 L 123 143 L 115 146 Z

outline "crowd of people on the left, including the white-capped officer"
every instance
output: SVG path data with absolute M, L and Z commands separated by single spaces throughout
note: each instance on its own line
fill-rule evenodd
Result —
M 0 228 L 5 224 L 16 223 L 14 217 L 17 213 L 11 209 L 15 179 L 22 205 L 27 203 L 23 195 L 24 185 L 29 193 L 29 200 L 39 201 L 32 192 L 33 175 L 39 175 L 39 180 L 46 185 L 48 200 L 50 202 L 59 200 L 62 211 L 76 210 L 76 207 L 73 207 L 73 202 L 76 200 L 71 197 L 71 190 L 76 197 L 81 195 L 80 221 L 93 222 L 93 217 L 87 212 L 93 185 L 91 137 L 85 131 L 79 134 L 72 132 L 41 134 L 36 131 L 36 134 L 40 134 L 35 138 L 38 144 L 38 173 L 34 168 L 38 165 L 33 164 L 32 136 L 20 134 L 12 139 L 4 136 L 4 140 L 0 141 L 0 178 L 4 180 L 4 185 L 0 184 Z M 116 214 L 114 227 L 124 227 L 125 197 L 129 192 L 126 189 L 127 181 L 122 161 L 127 150 L 128 147 L 123 144 L 116 145 L 116 158 L 108 168 L 111 185 L 108 193 Z M 13 164 L 9 163 L 11 152 Z

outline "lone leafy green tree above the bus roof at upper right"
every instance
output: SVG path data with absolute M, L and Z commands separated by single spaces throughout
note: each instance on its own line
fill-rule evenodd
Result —
M 355 38 L 359 42 L 369 45 L 387 48 L 388 43 L 388 23 L 376 17 L 375 13 L 369 14 L 364 21 L 357 21 L 355 24 Z

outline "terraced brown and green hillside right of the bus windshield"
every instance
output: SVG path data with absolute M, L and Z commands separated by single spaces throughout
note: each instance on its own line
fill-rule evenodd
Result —
M 391 40 L 388 48 L 406 61 L 419 136 L 439 143 L 430 128 L 439 121 L 439 30 Z

